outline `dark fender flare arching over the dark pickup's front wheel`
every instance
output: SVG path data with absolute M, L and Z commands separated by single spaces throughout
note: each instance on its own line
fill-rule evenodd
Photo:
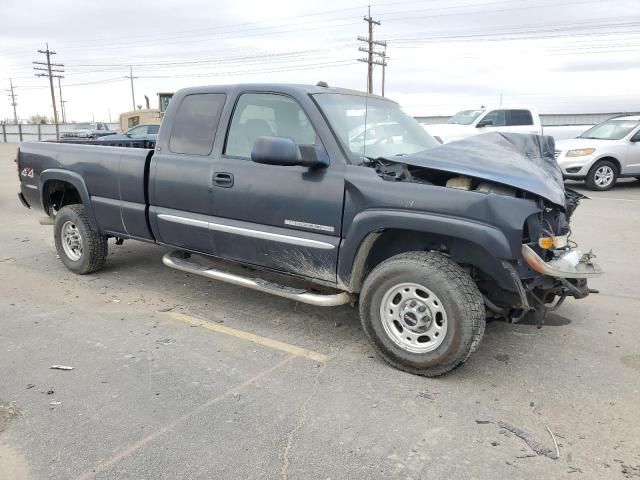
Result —
M 483 248 L 500 262 L 514 256 L 508 239 L 498 228 L 459 217 L 398 210 L 366 210 L 353 219 L 344 235 L 338 257 L 338 283 L 349 291 L 359 289 L 366 259 L 384 230 L 409 230 L 458 238 Z M 518 252 L 519 253 L 519 252 Z

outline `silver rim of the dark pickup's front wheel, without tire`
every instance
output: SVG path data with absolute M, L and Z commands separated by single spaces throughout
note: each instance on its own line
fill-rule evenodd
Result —
M 387 290 L 380 318 L 393 343 L 411 353 L 431 352 L 447 335 L 447 312 L 442 301 L 418 283 L 400 283 Z

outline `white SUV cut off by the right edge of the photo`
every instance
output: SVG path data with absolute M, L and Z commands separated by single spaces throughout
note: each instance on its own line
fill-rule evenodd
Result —
M 640 115 L 611 118 L 556 142 L 556 160 L 564 178 L 584 180 L 591 190 L 609 190 L 620 177 L 640 178 Z

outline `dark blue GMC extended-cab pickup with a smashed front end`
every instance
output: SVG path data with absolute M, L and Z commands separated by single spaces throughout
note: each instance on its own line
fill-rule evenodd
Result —
M 21 144 L 20 199 L 72 271 L 108 239 L 169 245 L 172 268 L 321 306 L 359 305 L 392 365 L 462 365 L 488 317 L 540 321 L 600 275 L 569 239 L 581 195 L 550 137 L 440 145 L 384 98 L 318 86 L 189 88 L 151 149 Z

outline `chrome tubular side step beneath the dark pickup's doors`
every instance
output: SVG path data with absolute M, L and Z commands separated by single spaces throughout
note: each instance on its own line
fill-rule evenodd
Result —
M 162 257 L 162 263 L 167 267 L 175 268 L 183 272 L 194 273 L 214 280 L 232 283 L 240 287 L 247 287 L 260 292 L 271 293 L 279 297 L 289 298 L 302 303 L 316 305 L 319 307 L 335 307 L 349 303 L 351 297 L 348 293 L 336 293 L 322 295 L 318 293 L 310 293 L 308 290 L 301 288 L 292 288 L 285 285 L 269 282 L 261 278 L 249 278 L 237 275 L 235 273 L 223 272 L 211 267 L 201 265 L 197 262 L 184 258 L 181 252 L 170 252 Z

